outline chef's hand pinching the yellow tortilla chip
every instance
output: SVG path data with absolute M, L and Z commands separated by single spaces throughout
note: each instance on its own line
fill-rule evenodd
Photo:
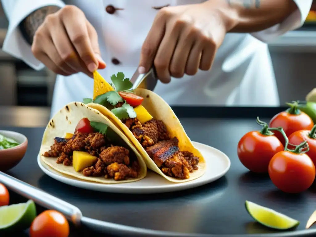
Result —
M 106 67 L 96 30 L 82 10 L 72 5 L 46 16 L 34 35 L 32 52 L 46 67 L 64 76 L 83 72 L 92 77 L 94 70 Z

